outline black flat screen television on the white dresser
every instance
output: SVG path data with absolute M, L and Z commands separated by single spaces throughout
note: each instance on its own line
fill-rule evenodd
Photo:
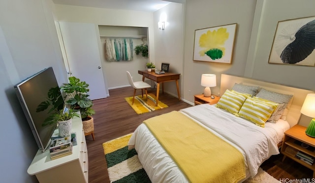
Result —
M 26 78 L 14 86 L 24 114 L 31 127 L 38 148 L 44 152 L 51 143 L 51 136 L 57 123 L 42 126 L 43 121 L 50 115 L 48 110 L 36 112 L 37 106 L 47 100 L 48 91 L 58 87 L 52 67 L 46 68 L 33 76 Z

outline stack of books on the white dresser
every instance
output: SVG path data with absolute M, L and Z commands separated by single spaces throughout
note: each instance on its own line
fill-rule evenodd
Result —
M 71 135 L 53 139 L 50 144 L 49 152 L 51 159 L 57 159 L 59 157 L 71 155 Z

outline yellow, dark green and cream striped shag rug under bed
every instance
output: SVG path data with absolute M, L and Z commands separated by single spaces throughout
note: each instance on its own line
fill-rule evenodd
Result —
M 132 133 L 103 143 L 111 183 L 151 183 L 135 149 L 128 150 L 127 144 L 131 135 Z M 280 181 L 259 168 L 257 175 L 244 183 L 280 183 Z

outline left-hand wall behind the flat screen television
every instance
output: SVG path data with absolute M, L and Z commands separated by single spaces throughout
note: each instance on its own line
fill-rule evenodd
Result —
M 52 66 L 66 81 L 51 0 L 0 1 L 1 182 L 37 182 L 27 169 L 38 148 L 13 86 Z

